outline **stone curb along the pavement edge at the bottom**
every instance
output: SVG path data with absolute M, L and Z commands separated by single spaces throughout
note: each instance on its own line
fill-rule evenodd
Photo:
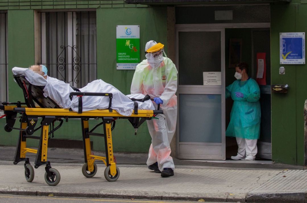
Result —
M 255 203 L 305 203 L 306 193 L 169 193 L 156 191 L 125 191 L 110 190 L 99 191 L 84 189 L 63 192 L 54 187 L 49 189 L 26 190 L 22 187 L 7 186 L 0 188 L 1 194 L 48 196 L 52 193 L 58 197 L 92 197 L 92 198 L 117 198 L 117 199 L 149 199 L 173 201 L 219 201 L 219 202 L 255 202 Z

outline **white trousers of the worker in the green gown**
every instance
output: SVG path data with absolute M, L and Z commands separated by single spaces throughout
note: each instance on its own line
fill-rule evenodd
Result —
M 238 143 L 238 157 L 248 157 L 255 159 L 257 150 L 257 140 L 249 140 L 240 137 L 235 137 Z

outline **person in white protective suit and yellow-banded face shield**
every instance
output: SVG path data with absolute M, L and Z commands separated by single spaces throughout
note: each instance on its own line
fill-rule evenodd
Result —
M 177 69 L 173 62 L 163 57 L 164 45 L 149 41 L 145 46 L 146 59 L 136 66 L 131 84 L 131 94 L 148 94 L 154 98 L 153 104 L 163 114 L 158 119 L 147 121 L 148 130 L 152 138 L 149 148 L 147 165 L 162 177 L 174 175 L 175 165 L 170 156 L 171 142 L 177 121 Z M 166 55 L 165 55 L 166 56 Z

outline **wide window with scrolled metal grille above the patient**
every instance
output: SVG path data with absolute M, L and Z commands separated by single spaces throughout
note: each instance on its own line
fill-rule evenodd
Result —
M 97 79 L 96 12 L 41 13 L 41 63 L 77 88 Z

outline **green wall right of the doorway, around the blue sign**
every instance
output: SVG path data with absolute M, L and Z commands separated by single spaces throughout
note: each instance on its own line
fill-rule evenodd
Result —
M 286 94 L 272 92 L 272 159 L 278 163 L 304 165 L 307 66 L 279 64 L 279 33 L 307 33 L 307 5 L 299 2 L 271 5 L 271 83 L 289 85 Z M 280 66 L 285 67 L 285 75 L 278 74 Z

